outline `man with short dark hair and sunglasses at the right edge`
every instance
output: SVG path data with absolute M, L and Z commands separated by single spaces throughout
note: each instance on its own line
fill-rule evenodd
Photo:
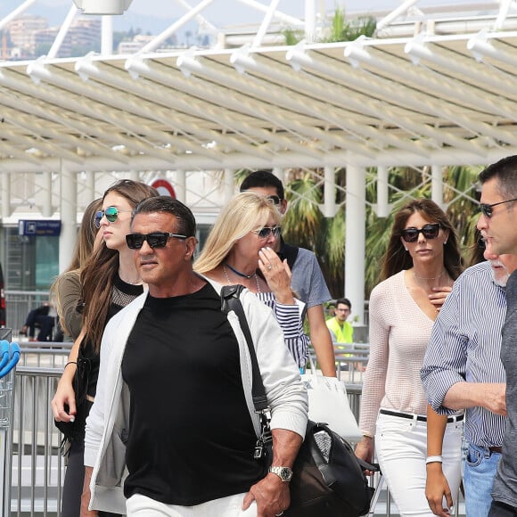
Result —
M 477 227 L 497 255 L 517 255 L 517 155 L 508 156 L 480 172 L 481 215 Z M 510 271 L 512 273 L 512 271 Z M 503 457 L 492 490 L 490 517 L 517 516 L 517 272 L 506 283 L 506 316 L 501 360 L 506 373 L 506 412 Z

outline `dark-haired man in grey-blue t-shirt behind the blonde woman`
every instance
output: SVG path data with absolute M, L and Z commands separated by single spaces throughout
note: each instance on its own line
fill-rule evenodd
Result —
M 280 179 L 267 170 L 251 172 L 241 185 L 241 192 L 251 191 L 266 195 L 280 213 L 285 214 L 287 200 Z M 316 359 L 322 373 L 327 377 L 336 376 L 335 357 L 331 334 L 325 324 L 323 304 L 331 300 L 316 255 L 304 248 L 291 246 L 283 241 L 282 235 L 276 239 L 275 251 L 281 259 L 287 259 L 291 267 L 291 287 L 307 306 L 310 341 L 316 352 Z

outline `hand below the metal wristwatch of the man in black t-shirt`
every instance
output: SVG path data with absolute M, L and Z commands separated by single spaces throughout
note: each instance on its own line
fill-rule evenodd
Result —
M 269 473 L 250 488 L 242 502 L 242 510 L 247 510 L 253 501 L 257 502 L 257 517 L 279 515 L 291 504 L 289 483 Z

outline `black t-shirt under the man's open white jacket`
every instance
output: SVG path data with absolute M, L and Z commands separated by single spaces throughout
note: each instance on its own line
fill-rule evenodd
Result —
M 122 375 L 131 394 L 126 497 L 199 505 L 247 492 L 261 478 L 239 346 L 211 285 L 148 297 Z

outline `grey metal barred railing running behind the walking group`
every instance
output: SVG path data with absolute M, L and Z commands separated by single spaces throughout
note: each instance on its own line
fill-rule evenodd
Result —
M 53 424 L 50 402 L 70 351 L 70 343 L 23 343 L 15 375 L 12 414 L 12 516 L 61 515 L 65 462 L 61 433 Z M 352 413 L 359 415 L 362 384 L 346 382 Z M 7 458 L 9 461 L 9 458 Z M 456 516 L 459 505 L 456 505 Z M 370 515 L 390 515 L 385 489 Z

